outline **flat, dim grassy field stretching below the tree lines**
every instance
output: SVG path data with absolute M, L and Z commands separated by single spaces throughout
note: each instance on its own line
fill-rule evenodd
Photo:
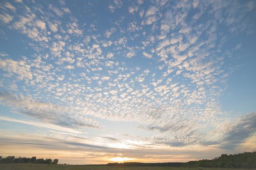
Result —
M 0 164 L 0 170 L 246 170 L 231 168 L 172 168 L 172 167 L 107 167 L 47 164 Z M 248 169 L 247 169 L 248 170 Z M 256 169 L 250 169 L 256 170 Z

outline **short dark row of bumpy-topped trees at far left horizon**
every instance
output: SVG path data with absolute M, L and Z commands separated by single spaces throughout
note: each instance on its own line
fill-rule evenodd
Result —
M 33 164 L 58 164 L 59 159 L 50 159 L 50 158 L 40 158 L 37 159 L 36 156 L 31 157 L 31 158 L 27 158 L 27 157 L 18 157 L 15 158 L 15 156 L 7 156 L 5 158 L 2 158 L 2 156 L 0 156 L 0 163 L 2 164 L 8 164 L 8 163 L 33 163 Z

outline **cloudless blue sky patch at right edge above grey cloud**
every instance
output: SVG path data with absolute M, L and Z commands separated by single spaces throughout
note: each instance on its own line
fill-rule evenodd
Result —
M 227 88 L 220 98 L 223 110 L 243 115 L 256 110 L 256 34 L 237 38 L 240 51 L 231 56 L 230 65 L 237 65 L 227 78 Z M 231 42 L 232 44 L 232 42 Z

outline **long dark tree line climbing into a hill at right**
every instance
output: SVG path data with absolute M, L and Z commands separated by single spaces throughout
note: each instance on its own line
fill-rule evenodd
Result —
M 256 168 L 256 152 L 238 154 L 221 154 L 214 159 L 203 159 L 189 162 L 166 162 L 166 163 L 108 163 L 107 166 L 124 167 L 208 167 L 208 168 Z

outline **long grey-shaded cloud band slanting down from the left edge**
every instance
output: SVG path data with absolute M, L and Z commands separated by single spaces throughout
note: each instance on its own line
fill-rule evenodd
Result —
M 78 129 L 79 127 L 83 126 L 99 128 L 99 125 L 97 125 L 98 123 L 93 119 L 86 119 L 84 117 L 83 120 L 79 120 L 77 118 L 72 118 L 70 109 L 65 106 L 59 106 L 45 102 L 37 102 L 29 98 L 24 99 L 23 96 L 20 96 L 19 98 L 15 94 L 2 92 L 0 92 L 0 102 L 2 104 L 11 106 L 19 113 L 38 118 L 62 127 L 74 129 Z

